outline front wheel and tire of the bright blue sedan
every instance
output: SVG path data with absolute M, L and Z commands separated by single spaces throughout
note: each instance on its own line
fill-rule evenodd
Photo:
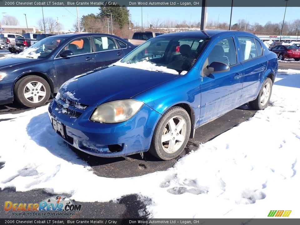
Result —
M 190 132 L 191 119 L 187 111 L 178 106 L 172 107 L 159 119 L 149 152 L 159 159 L 173 159 L 187 145 Z

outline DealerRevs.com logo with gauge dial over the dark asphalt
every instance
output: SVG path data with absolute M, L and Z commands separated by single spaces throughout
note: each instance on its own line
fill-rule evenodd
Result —
M 46 198 L 40 203 L 4 202 L 4 210 L 12 210 L 13 216 L 73 216 L 81 206 L 63 195 Z

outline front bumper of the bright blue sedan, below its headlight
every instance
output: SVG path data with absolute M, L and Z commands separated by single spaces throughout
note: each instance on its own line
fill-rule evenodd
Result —
M 80 151 L 99 157 L 120 157 L 148 151 L 155 125 L 161 116 L 158 112 L 144 104 L 128 121 L 108 124 L 89 120 L 94 109 L 94 106 L 89 106 L 82 115 L 74 118 L 59 111 L 54 99 L 48 111 L 51 123 L 54 119 L 63 126 L 63 140 Z

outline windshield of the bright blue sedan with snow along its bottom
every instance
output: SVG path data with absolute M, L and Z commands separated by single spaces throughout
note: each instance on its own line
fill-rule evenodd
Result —
M 192 67 L 208 40 L 206 37 L 155 37 L 115 65 L 182 74 Z

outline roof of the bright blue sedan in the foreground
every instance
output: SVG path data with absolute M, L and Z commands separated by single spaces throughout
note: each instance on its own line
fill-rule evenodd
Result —
M 159 37 L 165 37 L 165 36 L 213 37 L 213 36 L 220 36 L 225 34 L 247 34 L 253 36 L 252 33 L 244 32 L 244 31 L 197 30 L 197 31 L 183 31 L 183 32 L 162 34 L 159 35 Z

